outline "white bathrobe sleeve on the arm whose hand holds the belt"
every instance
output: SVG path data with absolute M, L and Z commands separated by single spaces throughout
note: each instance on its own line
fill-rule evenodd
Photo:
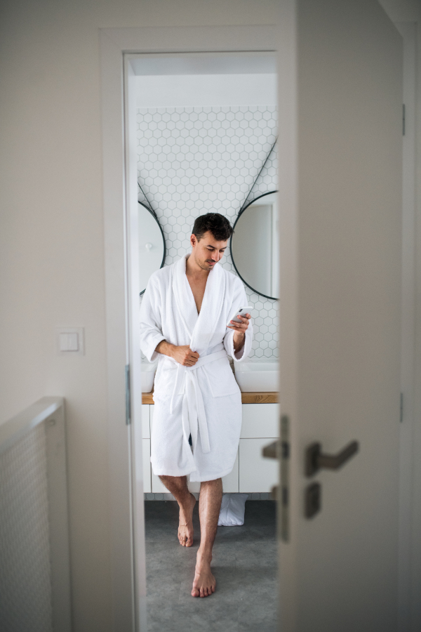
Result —
M 165 340 L 165 336 L 162 335 L 160 305 L 159 279 L 152 275 L 143 295 L 142 305 L 140 305 L 140 349 L 149 362 L 156 360 L 158 357 L 155 351 L 156 346 L 161 340 Z

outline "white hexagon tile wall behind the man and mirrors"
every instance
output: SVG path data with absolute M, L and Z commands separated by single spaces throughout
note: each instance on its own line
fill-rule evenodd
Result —
M 166 265 L 189 250 L 194 219 L 217 212 L 233 224 L 276 138 L 276 107 L 138 110 L 138 178 L 166 237 Z M 276 147 L 249 200 L 276 189 Z M 142 201 L 142 194 L 139 197 Z M 222 265 L 234 274 L 229 253 Z M 251 355 L 278 356 L 278 303 L 250 291 Z

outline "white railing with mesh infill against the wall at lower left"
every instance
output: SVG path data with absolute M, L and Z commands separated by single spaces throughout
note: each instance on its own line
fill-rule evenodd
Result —
M 65 418 L 44 397 L 0 426 L 0 630 L 70 632 Z

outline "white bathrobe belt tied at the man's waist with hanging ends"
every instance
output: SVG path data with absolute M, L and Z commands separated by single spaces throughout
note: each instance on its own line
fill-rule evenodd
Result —
M 193 449 L 196 447 L 198 431 L 200 434 L 201 449 L 203 454 L 210 452 L 208 422 L 206 421 L 205 407 L 201 394 L 199 381 L 196 375 L 196 369 L 203 367 L 205 364 L 220 360 L 227 357 L 225 349 L 203 355 L 199 357 L 194 367 L 183 367 L 182 364 L 177 365 L 177 376 L 173 396 L 171 397 L 171 414 L 174 410 L 175 397 L 182 394 L 182 431 L 185 440 L 188 442 L 189 435 L 192 435 Z M 175 367 L 174 367 L 175 368 Z M 182 390 L 184 382 L 184 389 Z

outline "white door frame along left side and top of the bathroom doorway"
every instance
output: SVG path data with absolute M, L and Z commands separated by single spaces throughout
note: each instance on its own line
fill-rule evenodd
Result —
M 294 4 L 288 0 L 286 4 Z M 102 177 L 105 239 L 105 308 L 107 327 L 107 412 L 109 441 L 109 515 L 113 629 L 146 632 L 145 529 L 142 482 L 133 467 L 133 426 L 141 423 L 140 349 L 135 322 L 138 291 L 135 269 L 128 274 L 135 249 L 127 225 L 133 202 L 127 121 L 133 107 L 126 81 L 135 53 L 276 51 L 274 25 L 224 27 L 140 27 L 100 29 Z M 286 42 L 286 45 L 288 43 Z M 126 69 L 126 72 L 125 72 Z M 133 162 L 133 161 L 132 161 Z M 137 231 L 136 235 L 137 235 Z M 134 281 L 133 281 L 134 279 Z M 132 331 L 131 331 L 132 329 Z M 126 366 L 133 397 L 126 423 Z

